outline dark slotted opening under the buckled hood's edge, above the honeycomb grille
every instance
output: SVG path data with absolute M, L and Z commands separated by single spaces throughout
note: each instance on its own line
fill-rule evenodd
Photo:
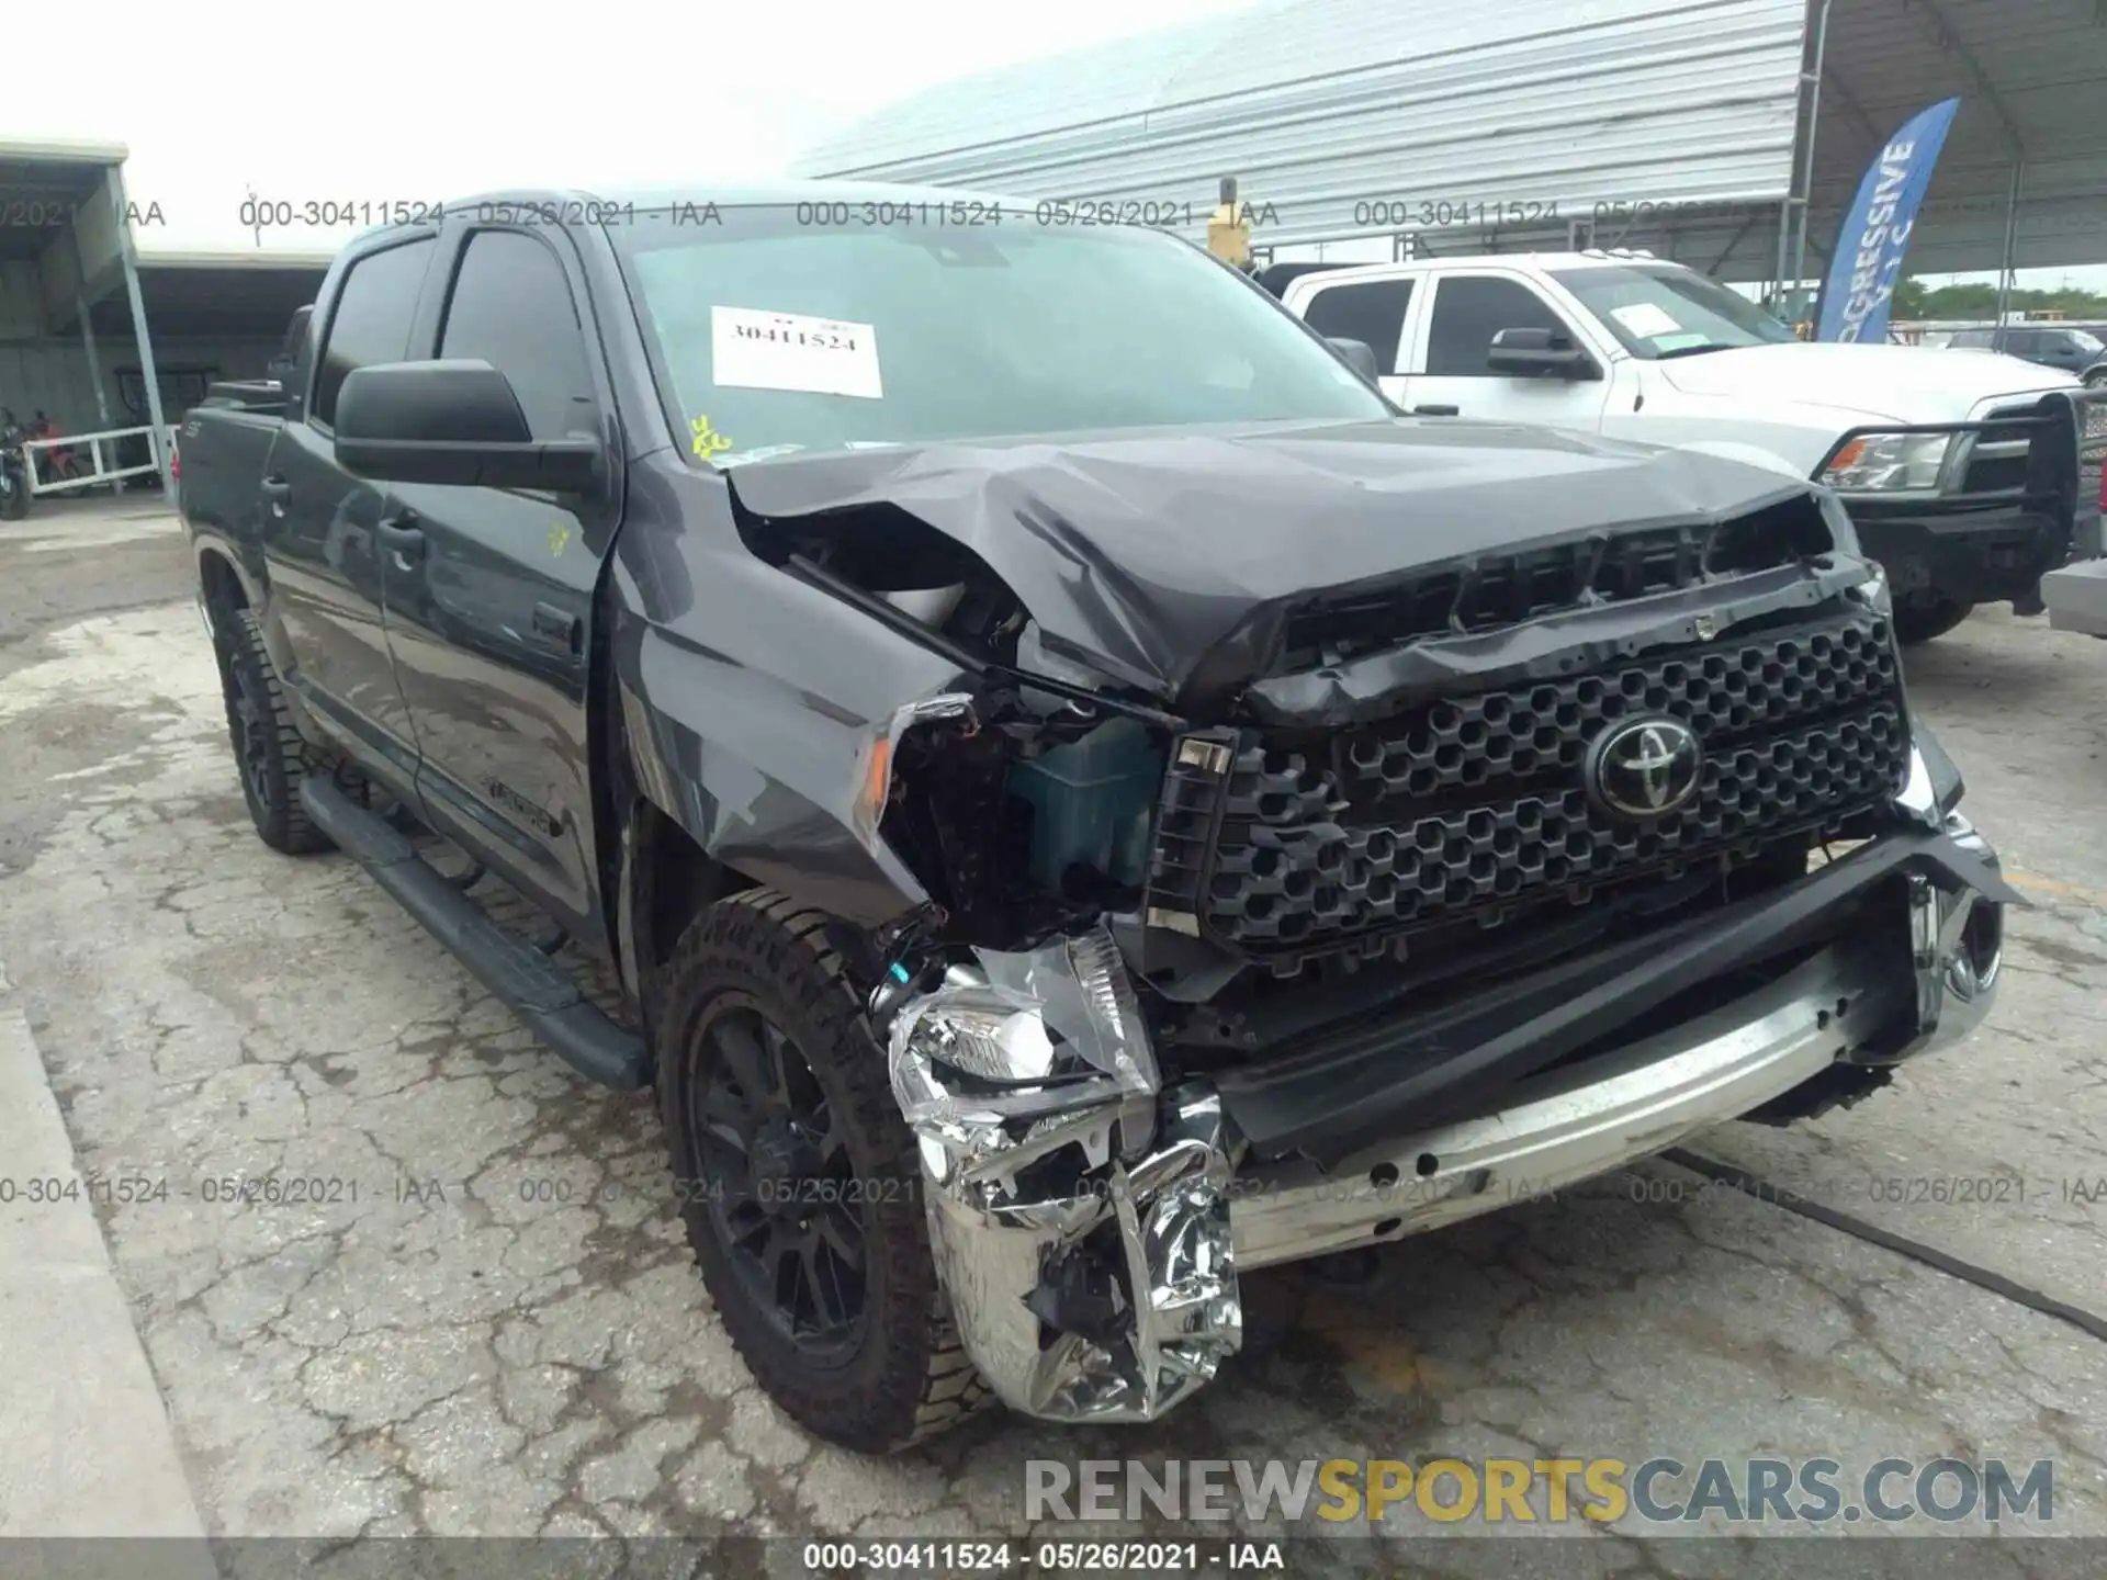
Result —
M 1275 674 L 1340 664 L 1422 636 L 1469 636 L 1568 609 L 1681 592 L 1833 548 L 1814 495 L 1795 495 L 1724 522 L 1595 533 L 1517 554 L 1481 554 L 1376 592 L 1298 609 L 1287 619 Z

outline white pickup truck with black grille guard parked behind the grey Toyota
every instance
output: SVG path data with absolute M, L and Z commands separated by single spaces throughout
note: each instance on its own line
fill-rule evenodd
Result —
M 1418 415 L 1578 428 L 1820 478 L 1924 643 L 1981 603 L 2042 611 L 2101 552 L 2107 398 L 2016 356 L 1810 345 L 1681 263 L 1515 253 L 1260 274 L 1317 333 L 1374 352 Z

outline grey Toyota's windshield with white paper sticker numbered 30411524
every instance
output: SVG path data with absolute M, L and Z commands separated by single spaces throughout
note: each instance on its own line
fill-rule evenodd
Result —
M 1039 225 L 978 202 L 712 215 L 651 223 L 638 211 L 609 234 L 664 396 L 691 453 L 716 466 L 792 449 L 1393 415 L 1271 297 L 1161 232 Z

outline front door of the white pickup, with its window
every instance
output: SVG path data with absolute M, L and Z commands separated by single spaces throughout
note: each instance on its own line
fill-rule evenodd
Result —
M 1544 423 L 1549 428 L 1601 426 L 1612 369 L 1599 379 L 1515 377 L 1494 373 L 1485 360 L 1502 329 L 1549 329 L 1568 343 L 1589 348 L 1563 314 L 1515 274 L 1443 270 L 1426 280 L 1431 301 L 1418 314 L 1401 404 L 1437 417 Z M 1597 364 L 1601 358 L 1597 358 Z

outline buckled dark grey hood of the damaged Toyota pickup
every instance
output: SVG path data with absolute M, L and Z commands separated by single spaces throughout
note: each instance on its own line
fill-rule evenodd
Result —
M 767 518 L 906 510 L 986 560 L 1049 651 L 1167 699 L 1203 664 L 1256 674 L 1268 609 L 1458 556 L 1736 516 L 1808 487 L 1715 455 L 1462 421 L 860 449 L 727 476 Z

